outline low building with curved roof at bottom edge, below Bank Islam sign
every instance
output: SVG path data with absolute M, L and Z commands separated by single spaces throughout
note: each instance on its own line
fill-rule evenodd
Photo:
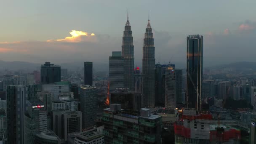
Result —
M 53 131 L 35 133 L 35 144 L 61 144 L 61 139 Z

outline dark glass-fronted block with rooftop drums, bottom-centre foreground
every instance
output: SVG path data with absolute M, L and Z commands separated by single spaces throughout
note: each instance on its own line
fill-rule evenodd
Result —
M 120 104 L 111 104 L 104 109 L 101 121 L 104 123 L 106 144 L 161 144 L 162 117 L 151 115 L 150 109 L 141 109 L 141 115 L 121 112 Z

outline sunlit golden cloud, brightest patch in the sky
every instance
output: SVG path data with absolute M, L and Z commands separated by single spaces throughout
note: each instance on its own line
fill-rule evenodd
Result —
M 89 34 L 88 32 L 72 30 L 69 32 L 72 37 L 65 37 L 65 39 L 58 40 L 47 40 L 47 42 L 69 42 L 69 43 L 79 43 L 81 41 L 95 41 L 92 37 L 95 37 L 94 33 Z

